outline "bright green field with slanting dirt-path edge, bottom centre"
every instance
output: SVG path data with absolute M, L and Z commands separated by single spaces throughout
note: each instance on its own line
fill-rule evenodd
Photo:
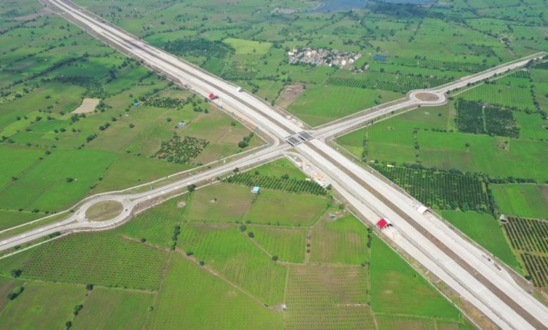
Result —
M 179 246 L 263 303 L 283 301 L 285 266 L 271 260 L 237 226 L 188 223 L 181 230 Z

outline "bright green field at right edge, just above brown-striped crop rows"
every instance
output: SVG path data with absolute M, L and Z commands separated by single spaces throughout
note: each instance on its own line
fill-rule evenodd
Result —
M 492 185 L 500 213 L 523 218 L 548 219 L 547 186 L 529 184 Z

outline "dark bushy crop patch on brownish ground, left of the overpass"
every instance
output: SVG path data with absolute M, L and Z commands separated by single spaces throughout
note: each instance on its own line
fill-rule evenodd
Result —
M 187 163 L 196 158 L 208 143 L 202 138 L 185 136 L 181 139 L 181 136 L 174 134 L 171 139 L 162 142 L 162 147 L 156 152 L 155 157 L 176 163 Z

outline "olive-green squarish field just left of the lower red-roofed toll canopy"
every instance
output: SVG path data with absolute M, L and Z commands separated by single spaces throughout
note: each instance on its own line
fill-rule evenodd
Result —
M 313 263 L 365 263 L 369 259 L 368 239 L 367 227 L 353 216 L 319 220 L 312 229 L 310 260 Z

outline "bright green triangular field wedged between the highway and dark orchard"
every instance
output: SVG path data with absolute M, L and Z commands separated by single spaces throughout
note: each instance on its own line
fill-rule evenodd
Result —
M 441 216 L 504 263 L 518 272 L 522 271 L 504 237 L 500 223 L 492 215 L 474 211 L 441 211 Z

